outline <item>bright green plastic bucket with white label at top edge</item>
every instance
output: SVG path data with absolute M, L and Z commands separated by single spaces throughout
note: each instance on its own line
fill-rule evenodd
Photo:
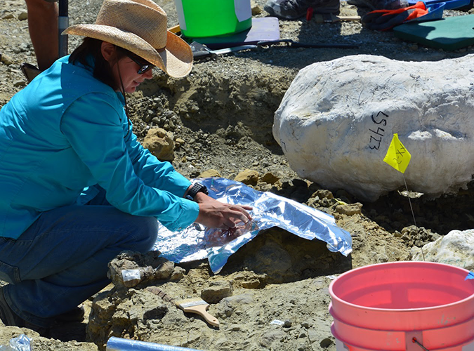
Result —
M 174 3 L 185 37 L 216 37 L 252 26 L 250 0 L 174 0 Z

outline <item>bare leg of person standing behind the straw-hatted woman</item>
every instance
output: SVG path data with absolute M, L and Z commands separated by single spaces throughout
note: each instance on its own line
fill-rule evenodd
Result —
M 58 4 L 49 0 L 25 0 L 29 37 L 40 71 L 58 60 Z

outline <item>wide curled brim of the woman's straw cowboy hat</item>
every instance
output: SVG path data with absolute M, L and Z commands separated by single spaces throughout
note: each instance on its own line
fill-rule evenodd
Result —
M 165 48 L 153 48 L 132 32 L 107 25 L 73 25 L 62 34 L 79 35 L 107 41 L 135 53 L 171 77 L 185 77 L 192 69 L 192 50 L 180 37 L 167 32 Z

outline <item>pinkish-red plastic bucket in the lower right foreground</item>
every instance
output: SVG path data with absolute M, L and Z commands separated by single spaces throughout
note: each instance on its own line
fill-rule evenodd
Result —
M 474 351 L 468 273 L 442 263 L 396 262 L 341 274 L 329 286 L 337 350 Z

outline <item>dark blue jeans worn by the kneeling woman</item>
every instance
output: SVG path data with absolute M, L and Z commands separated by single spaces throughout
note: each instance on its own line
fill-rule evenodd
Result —
M 156 218 L 121 212 L 104 192 L 84 206 L 46 211 L 18 239 L 0 237 L 6 302 L 22 319 L 51 326 L 110 283 L 107 264 L 118 253 L 150 251 L 156 239 Z

